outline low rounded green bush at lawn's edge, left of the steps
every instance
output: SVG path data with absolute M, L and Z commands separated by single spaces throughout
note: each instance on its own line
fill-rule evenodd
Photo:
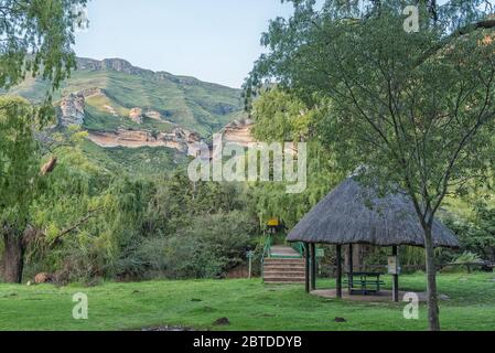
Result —
M 119 277 L 220 278 L 255 246 L 256 222 L 239 211 L 195 217 L 176 234 L 144 239 L 119 260 Z

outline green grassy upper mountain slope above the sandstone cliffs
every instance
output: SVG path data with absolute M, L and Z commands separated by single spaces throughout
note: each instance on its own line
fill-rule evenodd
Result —
M 32 101 L 43 98 L 46 83 L 26 79 L 12 93 Z M 153 128 L 166 129 L 170 122 L 208 137 L 239 117 L 243 111 L 240 90 L 205 83 L 193 77 L 154 73 L 133 67 L 122 60 L 103 62 L 79 58 L 78 69 L 55 95 L 55 100 L 69 93 L 100 88 L 105 96 L 86 103 L 90 119 L 87 128 L 115 129 L 131 125 L 129 110 L 136 107 L 159 113 L 163 121 L 147 121 Z M 115 114 L 109 113 L 109 108 Z M 116 119 L 120 118 L 120 119 Z

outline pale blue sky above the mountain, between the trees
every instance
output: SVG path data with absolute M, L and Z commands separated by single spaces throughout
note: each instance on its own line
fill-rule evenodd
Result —
M 290 13 L 280 0 L 92 0 L 75 51 L 240 87 L 268 21 Z

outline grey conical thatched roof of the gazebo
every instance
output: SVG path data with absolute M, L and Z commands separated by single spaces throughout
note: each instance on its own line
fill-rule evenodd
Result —
M 435 247 L 459 247 L 455 235 L 437 220 Z M 423 246 L 423 231 L 412 202 L 401 193 L 379 197 L 353 179 L 323 199 L 289 234 L 289 242 L 335 245 Z

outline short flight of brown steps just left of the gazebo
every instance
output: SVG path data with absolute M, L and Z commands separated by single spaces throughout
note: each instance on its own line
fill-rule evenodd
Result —
M 265 284 L 303 284 L 305 275 L 304 258 L 291 247 L 273 246 L 270 257 L 263 263 Z

